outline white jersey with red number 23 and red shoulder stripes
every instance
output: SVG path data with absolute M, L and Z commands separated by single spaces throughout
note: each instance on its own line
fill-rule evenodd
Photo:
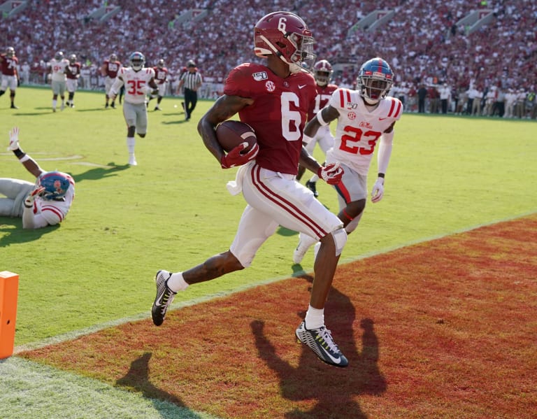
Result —
M 368 111 L 360 92 L 338 89 L 329 105 L 339 111 L 339 116 L 334 148 L 327 152 L 327 160 L 346 164 L 366 176 L 378 139 L 401 118 L 403 104 L 395 97 L 386 97 Z

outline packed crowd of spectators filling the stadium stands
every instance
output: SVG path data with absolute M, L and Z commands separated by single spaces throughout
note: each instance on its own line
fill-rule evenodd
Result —
M 120 6 L 119 13 L 104 23 L 88 19 L 102 4 L 102 0 L 31 1 L 22 13 L 0 20 L 2 45 L 13 46 L 20 64 L 27 63 L 30 83 L 47 82 L 47 63 L 55 51 L 75 53 L 83 63 L 81 87 L 87 89 L 101 88 L 98 69 L 112 52 L 124 61 L 139 50 L 148 65 L 164 59 L 171 72 L 169 94 L 175 92 L 186 62 L 194 59 L 206 82 L 200 96 L 217 97 L 230 69 L 257 61 L 252 53 L 255 22 L 270 11 L 290 10 L 313 31 L 317 57 L 338 69 L 334 73 L 338 85 L 353 87 L 357 64 L 380 56 L 396 73 L 392 94 L 405 101 L 406 111 L 419 110 L 417 92 L 424 86 L 425 112 L 442 112 L 438 102 L 445 84 L 450 89 L 449 112 L 516 118 L 519 114 L 505 111 L 510 104 L 487 106 L 487 100 L 505 102 L 509 93 L 517 92 L 533 97 L 526 100 L 524 110 L 535 118 L 537 2 L 533 0 L 184 0 L 180 6 L 172 1 L 112 0 L 108 4 Z M 468 28 L 457 27 L 457 21 L 480 8 L 494 10 L 494 20 L 471 34 Z M 193 9 L 206 9 L 208 14 L 180 22 L 178 17 Z M 372 33 L 350 30 L 361 17 L 379 9 L 394 10 L 394 17 Z M 468 108 L 468 99 L 474 98 L 480 102 L 479 110 Z

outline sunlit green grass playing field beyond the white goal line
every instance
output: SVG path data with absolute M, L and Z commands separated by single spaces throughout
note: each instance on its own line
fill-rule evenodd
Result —
M 21 147 L 43 169 L 76 180 L 61 227 L 23 231 L 20 219 L 0 218 L 0 270 L 20 275 L 17 348 L 148 318 L 157 269 L 186 269 L 226 250 L 245 206 L 225 188 L 234 169 L 220 169 L 196 132 L 210 101 L 199 101 L 190 122 L 178 98 L 165 98 L 160 113 L 150 106 L 148 136 L 137 139 L 138 166 L 129 167 L 121 108 L 105 110 L 104 94 L 78 92 L 76 108 L 52 113 L 51 97 L 50 90 L 23 87 L 20 109 L 10 110 L 7 97 L 0 102 L 1 141 L 7 145 L 9 129 L 19 126 Z M 403 115 L 385 197 L 368 204 L 343 262 L 536 212 L 536 138 L 535 121 Z M 33 180 L 11 152 L 0 152 L 0 167 L 3 177 Z M 321 183 L 318 189 L 336 211 L 335 192 Z M 296 240 L 280 229 L 250 269 L 190 287 L 173 306 L 296 274 Z M 303 270 L 312 264 L 308 254 Z M 27 368 L 16 357 L 13 363 L 4 368 Z M 33 368 L 22 381 L 48 374 Z M 83 379 L 65 379 L 84 386 Z

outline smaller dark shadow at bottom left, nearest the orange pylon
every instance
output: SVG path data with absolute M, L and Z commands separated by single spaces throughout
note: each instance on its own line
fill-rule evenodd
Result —
M 127 374 L 119 378 L 115 385 L 141 392 L 143 397 L 151 400 L 155 409 L 159 411 L 161 418 L 173 419 L 177 418 L 178 414 L 180 414 L 180 418 L 185 419 L 201 418 L 198 414 L 190 411 L 181 399 L 171 395 L 169 392 L 160 390 L 149 381 L 149 360 L 151 355 L 152 353 L 146 352 L 131 362 L 131 367 Z

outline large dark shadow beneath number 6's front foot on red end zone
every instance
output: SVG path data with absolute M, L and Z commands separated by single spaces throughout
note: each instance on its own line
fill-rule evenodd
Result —
M 308 275 L 300 276 L 311 282 Z M 264 335 L 264 322 L 253 321 L 250 326 L 255 345 L 267 366 L 280 380 L 280 394 L 291 401 L 315 400 L 310 411 L 295 408 L 285 413 L 285 418 L 353 418 L 365 419 L 356 398 L 359 395 L 380 395 L 386 391 L 385 377 L 378 369 L 378 338 L 373 329 L 373 320 L 364 318 L 360 327 L 361 352 L 353 338 L 355 307 L 349 297 L 332 288 L 327 301 L 329 327 L 334 339 L 349 360 L 343 369 L 332 367 L 317 359 L 312 350 L 301 345 L 298 367 L 292 367 L 275 352 L 275 347 Z M 299 313 L 303 318 L 305 313 Z

